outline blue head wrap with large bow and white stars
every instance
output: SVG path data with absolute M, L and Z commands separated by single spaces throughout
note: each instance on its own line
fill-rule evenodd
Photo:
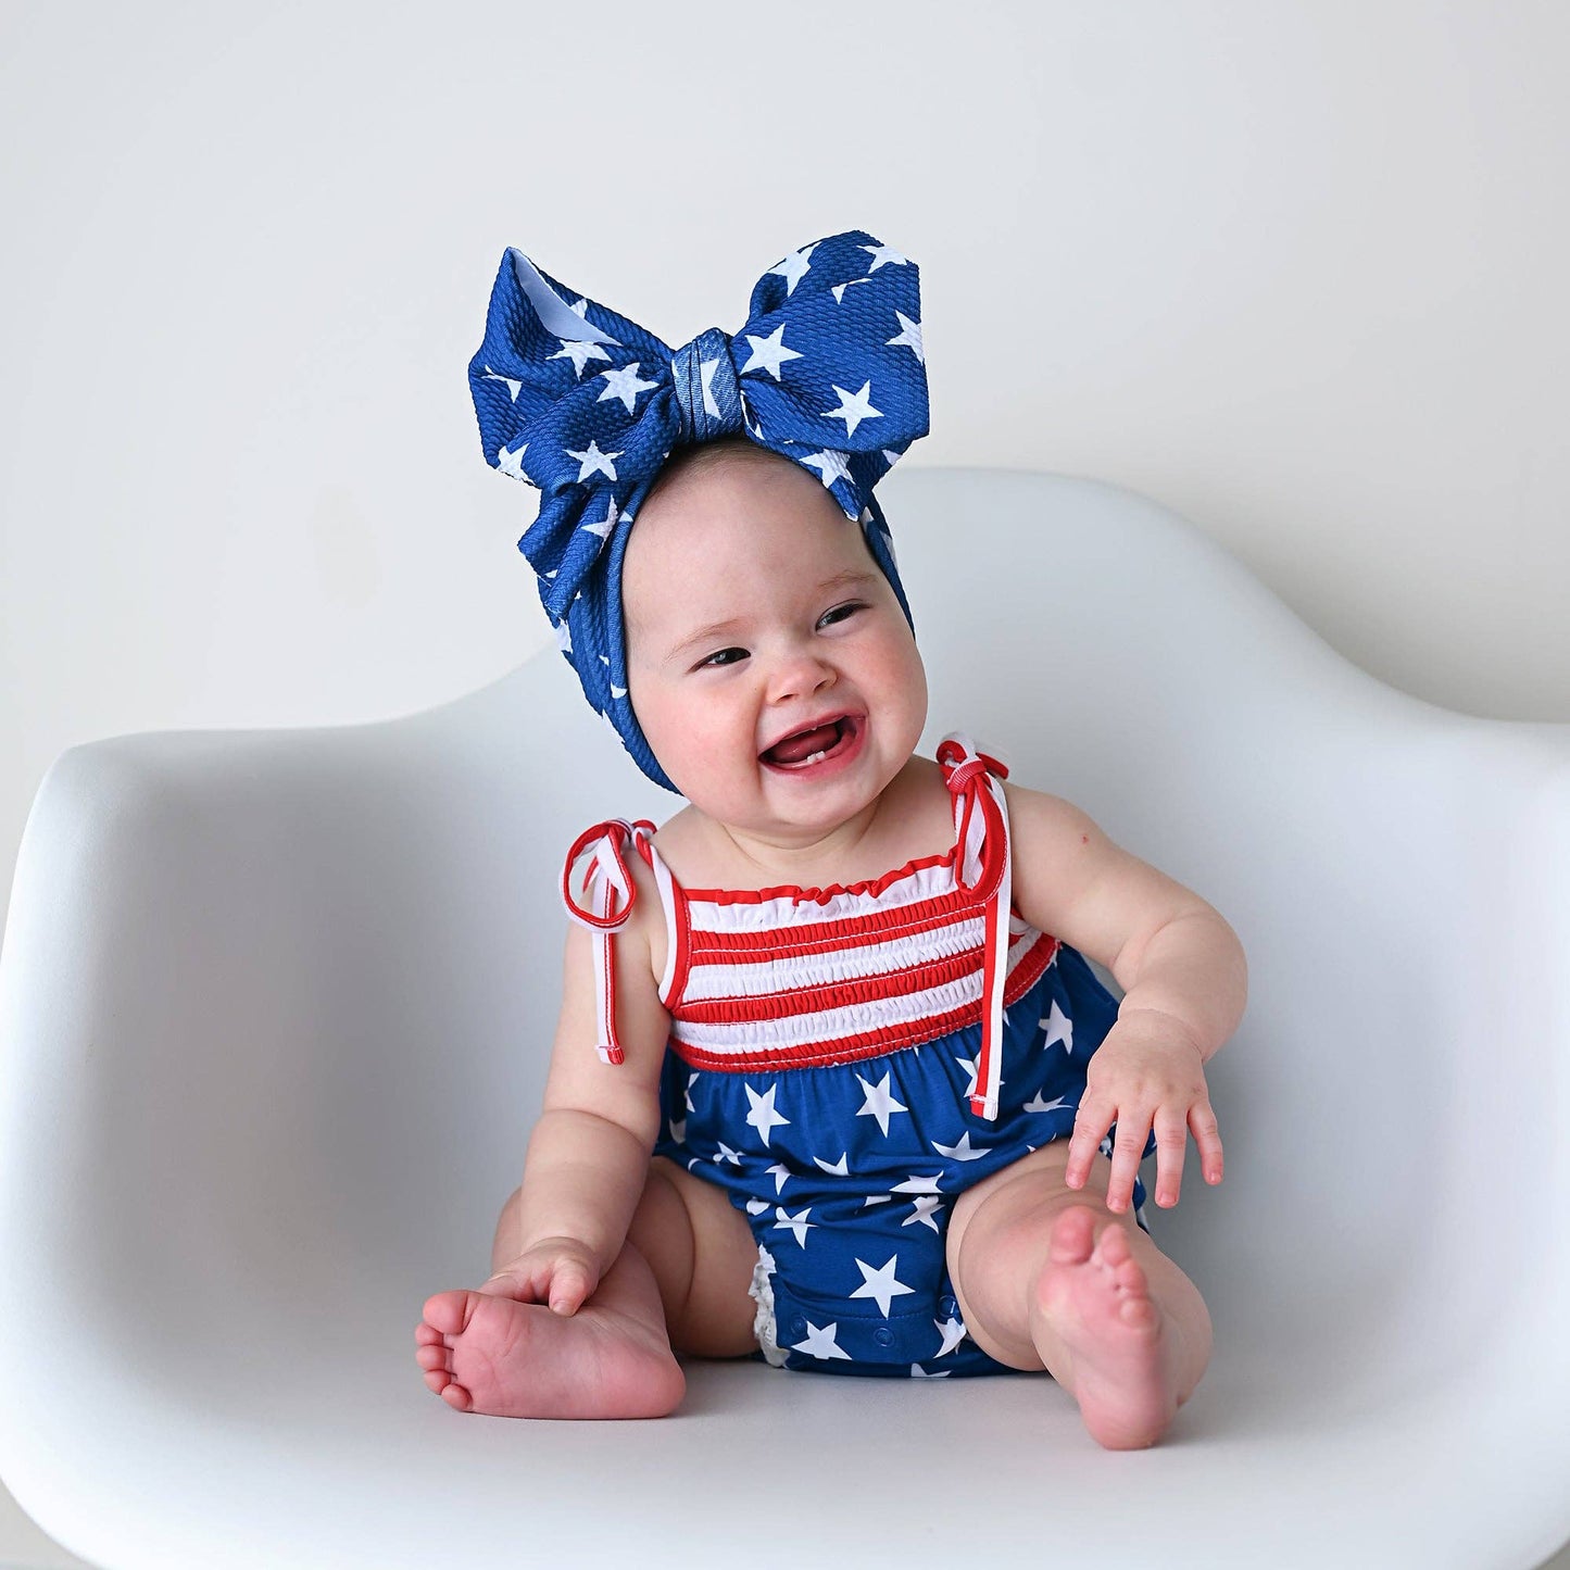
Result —
M 469 391 L 485 462 L 540 488 L 518 550 L 556 641 L 667 790 L 626 697 L 622 557 L 675 447 L 746 432 L 799 463 L 860 523 L 911 619 L 873 485 L 928 429 L 918 268 L 865 231 L 791 251 L 757 281 L 738 333 L 711 327 L 678 350 L 509 246 Z

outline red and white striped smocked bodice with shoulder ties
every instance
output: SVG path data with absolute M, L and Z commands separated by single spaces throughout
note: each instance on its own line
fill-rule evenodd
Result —
M 980 1022 L 972 1110 L 995 1118 L 1003 1008 L 1041 978 L 1058 944 L 1013 911 L 1008 771 L 961 733 L 944 738 L 937 761 L 953 798 L 953 848 L 856 884 L 683 889 L 652 843 L 655 824 L 586 829 L 567 856 L 562 898 L 595 939 L 600 1057 L 623 1057 L 611 933 L 633 907 L 631 842 L 664 906 L 659 997 L 686 1063 L 732 1072 L 846 1063 Z M 584 856 L 589 904 L 571 892 Z

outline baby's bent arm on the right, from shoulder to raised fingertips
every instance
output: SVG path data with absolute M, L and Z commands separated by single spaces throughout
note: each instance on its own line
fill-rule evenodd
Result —
M 1116 1123 L 1107 1204 L 1124 1209 L 1154 1127 L 1156 1203 L 1173 1206 L 1190 1130 L 1206 1182 L 1221 1181 L 1204 1063 L 1237 1028 L 1248 1002 L 1242 944 L 1214 906 L 1113 845 L 1072 804 L 1003 790 L 1019 914 L 1097 959 L 1124 991 L 1118 1019 L 1090 1060 L 1064 1181 L 1083 1187 Z

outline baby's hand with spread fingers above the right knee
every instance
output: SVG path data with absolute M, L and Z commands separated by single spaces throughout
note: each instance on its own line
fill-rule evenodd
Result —
M 1118 1138 L 1107 1184 L 1110 1210 L 1124 1210 L 1132 1203 L 1134 1176 L 1152 1124 L 1159 1206 L 1178 1203 L 1190 1129 L 1204 1181 L 1221 1181 L 1221 1137 L 1204 1083 L 1204 1057 L 1170 1014 L 1140 1008 L 1119 1016 L 1093 1053 L 1063 1173 L 1071 1188 L 1085 1187 L 1096 1151 L 1113 1123 Z

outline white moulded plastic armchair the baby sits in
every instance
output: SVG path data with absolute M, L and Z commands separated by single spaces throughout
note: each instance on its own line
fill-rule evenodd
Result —
M 0 959 L 0 1476 L 47 1532 L 115 1570 L 1526 1570 L 1570 1537 L 1570 725 L 1391 691 L 1129 491 L 879 495 L 928 746 L 970 732 L 1248 953 L 1226 1182 L 1190 1148 L 1148 1212 L 1215 1322 L 1167 1441 L 1102 1451 L 1044 1374 L 688 1360 L 626 1422 L 425 1388 L 421 1303 L 488 1273 L 539 1108 L 562 853 L 677 805 L 553 648 L 44 779 Z

